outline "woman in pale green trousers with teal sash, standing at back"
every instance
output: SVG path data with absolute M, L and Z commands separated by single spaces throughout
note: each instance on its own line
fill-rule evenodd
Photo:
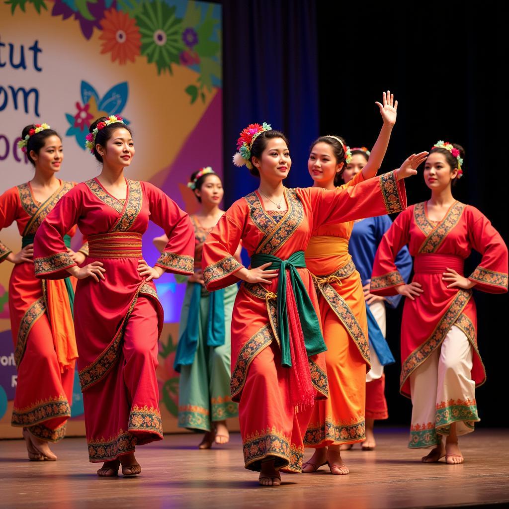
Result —
M 179 380 L 179 426 L 205 431 L 198 446 L 210 449 L 212 443 L 230 439 L 226 420 L 238 415 L 230 395 L 230 328 L 237 285 L 208 292 L 202 276 L 202 250 L 205 239 L 224 211 L 219 209 L 223 187 L 210 166 L 191 175 L 187 184 L 200 202 L 200 210 L 191 216 L 194 227 L 194 274 L 187 279 L 186 295 L 180 317 L 179 345 L 175 369 Z M 168 239 L 154 239 L 161 250 Z M 235 254 L 240 262 L 240 246 Z

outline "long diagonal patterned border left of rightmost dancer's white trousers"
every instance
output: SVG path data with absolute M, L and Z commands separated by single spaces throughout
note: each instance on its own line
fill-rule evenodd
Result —
M 408 397 L 408 394 L 402 391 L 407 378 L 442 344 L 447 332 L 449 332 L 450 328 L 458 320 L 471 297 L 471 291 L 459 290 L 431 336 L 405 359 L 400 376 L 400 392 L 404 396 Z

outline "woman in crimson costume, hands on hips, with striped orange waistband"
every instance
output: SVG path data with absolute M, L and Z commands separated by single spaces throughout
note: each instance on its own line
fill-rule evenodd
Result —
M 117 475 L 120 464 L 124 475 L 135 475 L 135 445 L 162 439 L 155 370 L 163 313 L 152 279 L 165 270 L 193 273 L 193 229 L 162 191 L 124 178 L 134 144 L 121 118 L 95 121 L 87 146 L 102 172 L 46 217 L 34 243 L 35 272 L 79 279 L 75 330 L 90 461 L 104 462 L 100 476 Z M 153 268 L 142 257 L 149 215 L 169 238 Z M 90 249 L 82 268 L 62 240 L 76 223 Z

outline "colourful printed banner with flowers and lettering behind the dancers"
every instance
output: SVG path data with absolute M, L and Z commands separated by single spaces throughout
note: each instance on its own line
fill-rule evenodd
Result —
M 17 148 L 27 124 L 60 133 L 59 177 L 82 182 L 100 167 L 85 149 L 90 124 L 121 115 L 133 130 L 136 156 L 127 177 L 150 181 L 188 212 L 196 200 L 190 174 L 212 166 L 222 175 L 221 6 L 186 0 L 0 0 L 0 192 L 29 181 L 33 168 Z M 158 253 L 151 224 L 145 259 Z M 0 233 L 14 252 L 15 225 Z M 79 237 L 79 236 L 78 236 Z M 73 247 L 80 245 L 75 238 Z M 0 438 L 10 427 L 16 386 L 8 292 L 12 265 L 0 265 Z M 165 326 L 158 367 L 165 431 L 176 430 L 178 374 L 173 370 L 184 285 L 157 282 Z M 70 433 L 83 432 L 74 384 Z

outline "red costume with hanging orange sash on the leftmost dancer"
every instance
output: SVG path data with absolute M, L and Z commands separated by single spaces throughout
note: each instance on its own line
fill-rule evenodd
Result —
M 0 229 L 16 221 L 23 246 L 33 243 L 44 218 L 74 185 L 60 181 L 60 187 L 44 203 L 34 198 L 30 182 L 7 190 L 0 196 Z M 74 224 L 63 232 L 67 234 L 67 245 L 75 232 Z M 67 253 L 64 241 L 62 246 Z M 0 261 L 10 252 L 0 243 Z M 9 313 L 18 368 L 12 425 L 50 442 L 64 438 L 66 421 L 71 416 L 77 357 L 72 319 L 74 286 L 75 279 L 70 277 L 39 281 L 34 264 L 29 262 L 14 265 L 9 281 Z

